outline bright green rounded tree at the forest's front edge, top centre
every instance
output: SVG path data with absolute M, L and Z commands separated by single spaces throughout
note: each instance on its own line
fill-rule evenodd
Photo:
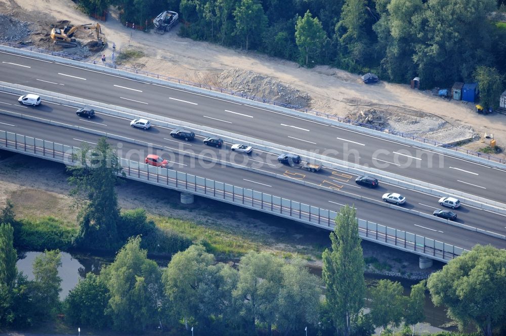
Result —
M 247 52 L 250 42 L 260 40 L 260 36 L 267 26 L 267 16 L 259 0 L 241 0 L 233 15 L 235 18 L 234 34 L 244 39 Z

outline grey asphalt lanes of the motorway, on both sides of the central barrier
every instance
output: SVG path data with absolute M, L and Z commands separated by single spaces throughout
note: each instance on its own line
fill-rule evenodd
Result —
M 279 143 L 284 146 L 318 151 L 319 154 L 369 165 L 498 202 L 506 200 L 504 193 L 501 193 L 501 183 L 497 183 L 498 180 L 504 180 L 506 176 L 505 171 L 502 169 L 451 156 L 443 156 L 435 152 L 349 131 L 341 127 L 209 98 L 205 95 L 183 90 L 6 53 L 0 53 L 0 59 L 2 59 L 0 64 L 0 80 L 2 81 L 64 92 L 74 97 L 129 107 Z M 160 126 L 144 131 L 130 128 L 129 120 L 103 114 L 98 114 L 93 120 L 81 119 L 75 115 L 75 109 L 62 105 L 44 103 L 42 106 L 31 108 L 16 104 L 17 97 L 10 94 L 0 94 L 0 108 L 6 111 L 33 115 L 155 143 L 157 147 L 164 148 L 164 151 L 160 154 L 171 159 L 173 168 L 177 170 L 238 186 L 254 188 L 264 193 L 322 208 L 339 209 L 343 204 L 354 203 L 359 218 L 396 227 L 466 249 L 477 243 L 490 243 L 500 248 L 506 247 L 506 242 L 498 238 L 384 208 L 374 203 L 352 200 L 342 194 L 309 188 L 237 168 L 217 166 L 213 169 L 205 169 L 202 165 L 192 163 L 188 157 L 171 153 L 180 151 L 205 153 L 202 152 L 205 149 L 206 155 L 216 156 L 223 161 L 235 162 L 245 166 L 261 166 L 260 169 L 268 172 L 301 179 L 317 185 L 333 187 L 380 202 L 383 193 L 387 191 L 400 192 L 408 200 L 408 203 L 404 206 L 405 208 L 429 214 L 435 208 L 441 208 L 434 196 L 400 189 L 386 183 L 381 183 L 380 187 L 376 189 L 363 188 L 354 183 L 356 176 L 347 173 L 329 168 L 325 168 L 320 173 L 310 173 L 289 166 L 281 166 L 277 163 L 275 156 L 261 151 L 255 151 L 251 157 L 244 157 L 230 152 L 230 144 L 227 144 L 222 150 L 215 150 L 203 147 L 199 138 L 192 143 L 174 140 L 169 135 L 170 130 Z M 40 123 L 5 115 L 0 115 L 0 121 L 0 129 L 65 143 L 66 145 L 80 146 L 80 142 L 83 140 L 92 143 L 97 140 L 97 136 L 85 132 L 46 124 L 41 127 Z M 114 146 L 118 145 L 114 141 L 111 141 L 111 143 Z M 142 148 L 131 143 L 122 143 L 120 150 L 123 157 L 127 154 L 138 153 L 134 154 L 137 155 L 136 158 L 130 157 L 130 159 L 139 161 L 143 161 L 145 155 L 156 152 L 153 149 Z M 385 167 L 385 165 L 388 165 L 388 167 Z M 469 205 L 463 205 L 455 212 L 460 223 L 499 234 L 506 233 L 505 216 L 472 208 Z

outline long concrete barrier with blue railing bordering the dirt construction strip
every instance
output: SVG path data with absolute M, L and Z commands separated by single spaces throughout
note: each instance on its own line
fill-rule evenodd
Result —
M 64 59 L 69 59 L 69 60 L 83 62 L 83 63 L 90 63 L 90 64 L 94 64 L 94 65 L 100 65 L 102 63 L 102 62 L 91 61 L 91 60 L 88 60 L 88 59 L 84 59 L 84 58 L 80 58 L 80 57 L 77 57 L 77 56 L 69 55 L 69 54 L 66 54 L 66 53 L 53 52 L 53 51 L 49 51 L 49 50 L 45 50 L 45 49 L 40 49 L 40 48 L 35 48 L 35 47 L 26 46 L 26 45 L 17 44 L 17 43 L 5 42 L 5 43 L 0 43 L 0 45 L 6 45 L 6 46 L 14 47 L 14 48 L 17 48 L 17 49 L 25 49 L 25 50 L 29 50 L 30 52 L 36 52 L 36 53 L 40 53 L 40 54 L 61 57 L 61 58 L 64 58 Z M 376 131 L 380 131 L 380 132 L 388 131 L 389 134 L 397 135 L 397 136 L 400 136 L 400 137 L 403 137 L 403 138 L 406 138 L 406 139 L 418 141 L 418 142 L 421 142 L 421 143 L 427 143 L 427 144 L 432 145 L 432 146 L 437 146 L 437 147 L 442 147 L 442 148 L 450 149 L 450 150 L 455 151 L 457 153 L 463 153 L 463 154 L 467 154 L 467 155 L 471 155 L 471 156 L 476 156 L 478 158 L 486 159 L 486 160 L 489 160 L 489 161 L 492 161 L 492 162 L 506 164 L 506 159 L 494 157 L 494 156 L 491 156 L 491 155 L 488 155 L 488 154 L 485 154 L 485 153 L 470 151 L 470 150 L 467 150 L 465 148 L 461 148 L 461 147 L 458 147 L 458 146 L 447 145 L 446 143 L 434 141 L 434 140 L 427 139 L 427 138 L 424 138 L 424 137 L 415 136 L 415 135 L 411 135 L 411 134 L 407 134 L 407 133 L 403 133 L 403 132 L 399 132 L 399 131 L 395 131 L 395 130 L 391 130 L 391 129 L 387 129 L 387 128 L 383 128 L 383 127 L 378 127 L 378 126 L 373 126 L 373 125 L 369 125 L 369 124 L 364 124 L 364 123 L 356 122 L 356 121 L 351 120 L 351 119 L 341 118 L 341 117 L 338 117 L 338 116 L 335 116 L 335 115 L 331 115 L 331 114 L 328 114 L 328 113 L 323 113 L 323 112 L 315 111 L 315 110 L 312 110 L 312 109 L 307 109 L 307 108 L 304 108 L 302 106 L 279 103 L 279 102 L 275 102 L 275 101 L 272 101 L 272 100 L 269 100 L 269 99 L 266 99 L 266 98 L 261 98 L 261 97 L 256 97 L 254 95 L 245 94 L 245 93 L 242 93 L 242 92 L 239 92 L 239 91 L 224 89 L 224 88 L 215 87 L 215 86 L 206 85 L 206 84 L 201 84 L 201 83 L 190 82 L 190 81 L 187 81 L 187 80 L 184 80 L 184 79 L 179 79 L 179 78 L 174 78 L 174 77 L 159 75 L 159 74 L 155 74 L 155 73 L 152 73 L 152 72 L 149 72 L 149 71 L 144 71 L 144 70 L 139 70 L 139 69 L 135 69 L 135 68 L 129 68 L 129 67 L 125 67 L 125 66 L 116 65 L 116 64 L 110 63 L 110 62 L 109 63 L 108 62 L 103 63 L 103 66 L 108 67 L 108 68 L 114 68 L 114 69 L 117 69 L 117 70 L 120 70 L 120 71 L 135 73 L 135 74 L 138 74 L 138 75 L 143 75 L 143 76 L 147 76 L 147 77 L 151 77 L 151 78 L 156 78 L 156 79 L 160 79 L 160 80 L 174 82 L 174 83 L 178 83 L 178 84 L 183 84 L 183 85 L 189 85 L 189 86 L 193 86 L 193 87 L 198 87 L 200 89 L 205 89 L 205 90 L 209 90 L 209 91 L 215 91 L 215 92 L 220 92 L 220 93 L 224 93 L 224 94 L 229 94 L 229 95 L 232 95 L 233 97 L 239 97 L 239 98 L 247 99 L 247 100 L 250 100 L 250 101 L 260 102 L 260 103 L 264 103 L 264 104 L 270 104 L 270 105 L 273 105 L 273 106 L 279 106 L 279 107 L 282 107 L 282 108 L 287 108 L 287 109 L 299 111 L 299 112 L 302 112 L 302 113 L 311 114 L 311 115 L 315 115 L 315 116 L 318 116 L 318 117 L 322 117 L 322 118 L 327 118 L 327 119 L 339 121 L 339 122 L 346 123 L 346 124 L 358 125 L 358 126 L 361 126 L 361 127 L 364 127 L 364 128 L 368 128 L 368 129 L 372 129 L 372 130 L 376 130 Z

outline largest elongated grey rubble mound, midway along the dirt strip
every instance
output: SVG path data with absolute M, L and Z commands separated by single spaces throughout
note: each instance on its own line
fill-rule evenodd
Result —
M 218 76 L 218 81 L 223 88 L 266 98 L 278 103 L 307 107 L 311 102 L 309 94 L 249 70 L 225 70 Z

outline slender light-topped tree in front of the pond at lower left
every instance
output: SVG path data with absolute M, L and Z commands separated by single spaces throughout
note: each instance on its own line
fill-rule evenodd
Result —
M 43 305 L 47 315 L 56 313 L 60 306 L 62 278 L 58 268 L 62 266 L 60 250 L 45 251 L 33 261 L 33 276 L 37 287 L 37 301 Z

